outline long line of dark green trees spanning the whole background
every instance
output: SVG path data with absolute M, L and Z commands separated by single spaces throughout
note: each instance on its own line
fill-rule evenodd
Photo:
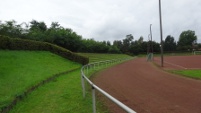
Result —
M 0 35 L 11 38 L 22 38 L 49 42 L 64 47 L 73 52 L 88 53 L 126 53 L 142 54 L 147 52 L 160 52 L 160 43 L 155 41 L 144 41 L 141 36 L 134 40 L 132 34 L 128 34 L 122 40 L 96 41 L 94 39 L 85 39 L 70 28 L 62 27 L 58 22 L 52 22 L 50 27 L 45 22 L 32 20 L 29 23 L 17 24 L 16 21 L 0 21 Z M 197 36 L 194 31 L 187 30 L 180 34 L 178 42 L 174 37 L 168 35 L 164 42 L 164 51 L 190 51 L 201 48 L 197 43 Z

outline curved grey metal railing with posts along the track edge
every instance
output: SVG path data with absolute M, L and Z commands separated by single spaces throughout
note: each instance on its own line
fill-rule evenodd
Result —
M 93 82 L 91 82 L 86 76 L 85 76 L 85 72 L 88 74 L 89 73 L 89 68 L 90 69 L 96 69 L 99 66 L 107 66 L 111 63 L 115 63 L 115 62 L 121 62 L 121 61 L 125 61 L 125 60 L 129 60 L 131 58 L 124 58 L 124 59 L 115 59 L 115 60 L 106 60 L 106 61 L 100 61 L 100 62 L 95 62 L 95 63 L 91 63 L 91 64 L 87 64 L 84 65 L 81 68 L 81 82 L 82 82 L 82 89 L 83 89 L 83 97 L 85 97 L 86 95 L 86 89 L 85 89 L 85 80 L 91 85 L 92 88 L 92 103 L 93 103 L 93 113 L 96 113 L 96 97 L 95 97 L 95 90 L 99 91 L 100 93 L 102 93 L 104 96 L 106 96 L 108 99 L 110 99 L 111 101 L 113 101 L 115 104 L 117 104 L 118 106 L 120 106 L 122 109 L 124 109 L 126 112 L 128 113 L 136 113 L 135 111 L 133 111 L 131 108 L 129 108 L 128 106 L 126 106 L 125 104 L 123 104 L 122 102 L 120 102 L 119 100 L 117 100 L 116 98 L 112 97 L 110 94 L 108 94 L 107 92 L 105 92 L 104 90 L 102 90 L 101 88 L 99 88 L 98 86 L 96 86 Z

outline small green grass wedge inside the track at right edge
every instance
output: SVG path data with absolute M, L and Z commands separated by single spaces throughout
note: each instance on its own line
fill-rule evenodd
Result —
M 172 72 L 190 78 L 201 79 L 201 70 L 177 70 Z

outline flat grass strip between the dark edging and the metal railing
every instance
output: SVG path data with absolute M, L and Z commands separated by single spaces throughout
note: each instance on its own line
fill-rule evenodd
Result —
M 101 111 L 100 104 L 98 111 Z M 19 102 L 10 113 L 91 113 L 91 94 L 82 97 L 80 70 L 58 77 Z

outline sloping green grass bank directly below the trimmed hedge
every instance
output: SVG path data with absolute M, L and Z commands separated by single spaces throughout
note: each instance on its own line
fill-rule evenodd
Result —
M 42 80 L 81 67 L 50 52 L 0 51 L 0 108 Z

